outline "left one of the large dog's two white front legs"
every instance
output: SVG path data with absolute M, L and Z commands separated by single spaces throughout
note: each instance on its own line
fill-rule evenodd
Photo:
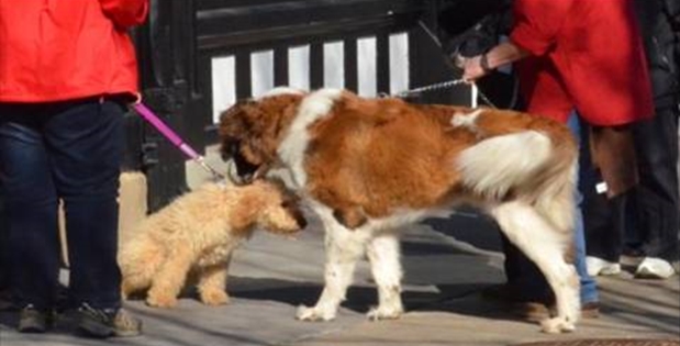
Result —
M 341 302 L 345 300 L 347 287 L 352 283 L 354 268 L 364 255 L 368 241 L 366 232 L 347 230 L 333 219 L 325 221 L 325 286 L 316 305 L 298 308 L 297 317 L 303 321 L 335 319 Z

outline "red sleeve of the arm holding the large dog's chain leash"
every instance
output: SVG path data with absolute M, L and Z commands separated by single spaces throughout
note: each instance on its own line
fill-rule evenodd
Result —
M 513 1 L 514 24 L 510 40 L 533 55 L 545 54 L 555 44 L 555 37 L 576 1 L 579 0 Z

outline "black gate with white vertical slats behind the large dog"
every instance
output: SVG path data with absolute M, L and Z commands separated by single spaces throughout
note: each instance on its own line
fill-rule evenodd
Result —
M 145 102 L 196 148 L 215 114 L 283 85 L 360 94 L 454 78 L 435 40 L 441 0 L 155 0 L 135 33 Z M 467 88 L 425 96 L 466 103 Z M 125 168 L 147 175 L 149 209 L 186 189 L 185 158 L 127 118 Z

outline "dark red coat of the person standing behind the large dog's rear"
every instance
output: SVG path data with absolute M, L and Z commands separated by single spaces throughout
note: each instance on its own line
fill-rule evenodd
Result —
M 511 41 L 533 56 L 517 65 L 527 111 L 590 124 L 649 118 L 651 86 L 628 0 L 514 0 Z

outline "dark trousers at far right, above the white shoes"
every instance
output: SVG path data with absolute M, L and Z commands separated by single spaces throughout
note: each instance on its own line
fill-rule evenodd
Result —
M 678 110 L 657 110 L 633 125 L 639 183 L 607 200 L 595 192 L 591 168 L 584 194 L 588 255 L 618 261 L 631 250 L 669 261 L 678 259 Z

